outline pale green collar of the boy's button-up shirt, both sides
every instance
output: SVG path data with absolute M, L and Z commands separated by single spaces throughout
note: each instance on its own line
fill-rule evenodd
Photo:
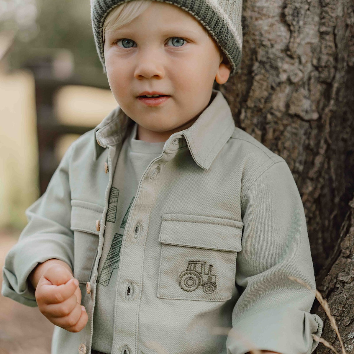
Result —
M 198 119 L 189 128 L 173 133 L 163 148 L 167 152 L 176 150 L 176 142 L 179 141 L 177 138 L 185 138 L 194 161 L 204 170 L 209 169 L 213 159 L 235 130 L 230 107 L 221 91 L 213 89 L 211 100 Z M 119 106 L 110 112 L 95 128 L 93 159 L 97 160 L 108 145 L 124 141 L 134 123 Z

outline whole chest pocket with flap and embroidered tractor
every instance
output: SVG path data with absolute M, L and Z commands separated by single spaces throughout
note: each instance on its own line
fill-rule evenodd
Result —
M 163 214 L 157 297 L 225 301 L 235 286 L 243 223 Z

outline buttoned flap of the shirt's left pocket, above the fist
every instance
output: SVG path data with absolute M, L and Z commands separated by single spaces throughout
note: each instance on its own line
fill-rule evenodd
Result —
M 101 222 L 104 207 L 82 200 L 71 201 L 70 229 L 99 235 L 96 220 Z

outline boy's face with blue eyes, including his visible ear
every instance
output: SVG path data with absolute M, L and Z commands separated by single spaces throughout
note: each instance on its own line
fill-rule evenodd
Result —
M 104 57 L 117 103 L 137 122 L 137 138 L 149 142 L 166 141 L 190 127 L 208 106 L 214 79 L 223 84 L 231 71 L 192 15 L 159 1 L 105 33 Z M 170 97 L 151 106 L 138 98 L 144 91 Z

